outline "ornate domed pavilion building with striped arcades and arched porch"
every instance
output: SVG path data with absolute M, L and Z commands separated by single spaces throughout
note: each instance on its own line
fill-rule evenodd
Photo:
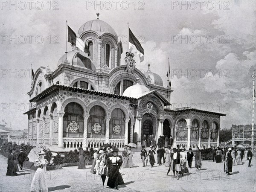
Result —
M 73 50 L 57 69 L 40 67 L 28 92 L 28 140 L 52 151 L 110 143 L 140 146 L 143 134 L 173 136 L 174 147 L 215 147 L 221 113 L 194 108 L 170 109 L 171 87 L 156 73 L 142 73 L 127 52 L 120 65 L 122 43 L 106 22 L 90 20 L 78 34 L 90 55 Z

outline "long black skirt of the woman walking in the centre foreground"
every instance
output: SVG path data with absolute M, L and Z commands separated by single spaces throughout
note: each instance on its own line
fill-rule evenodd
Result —
M 115 188 L 116 186 L 124 184 L 122 175 L 119 173 L 119 166 L 112 166 L 109 170 L 107 186 Z

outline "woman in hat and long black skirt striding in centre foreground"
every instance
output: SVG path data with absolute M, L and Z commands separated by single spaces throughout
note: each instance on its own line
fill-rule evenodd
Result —
M 124 185 L 124 180 L 122 179 L 122 175 L 119 172 L 119 169 L 122 165 L 122 159 L 118 157 L 118 148 L 113 148 L 113 157 L 108 157 L 107 159 L 107 166 L 111 164 L 109 175 L 108 175 L 108 183 L 107 186 L 111 187 L 112 189 L 116 187 L 118 190 L 119 185 Z

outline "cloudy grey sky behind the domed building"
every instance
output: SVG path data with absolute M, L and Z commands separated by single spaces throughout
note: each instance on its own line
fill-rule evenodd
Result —
M 66 49 L 65 21 L 78 32 L 83 23 L 96 19 L 97 9 L 99 19 L 119 35 L 124 51 L 129 22 L 145 52 L 136 67 L 145 72 L 150 61 L 164 87 L 170 59 L 174 108 L 225 113 L 221 128 L 251 123 L 255 0 L 182 1 L 183 6 L 158 0 L 14 2 L 1 1 L 0 9 L 0 118 L 7 126 L 27 128 L 22 113 L 29 109 L 31 64 L 34 70 L 47 65 L 55 70 Z

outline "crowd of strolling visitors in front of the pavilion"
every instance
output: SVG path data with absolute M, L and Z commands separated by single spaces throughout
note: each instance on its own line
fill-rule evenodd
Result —
M 145 135 L 144 135 L 145 136 Z M 148 138 L 150 138 L 148 140 Z M 148 159 L 151 167 L 153 167 L 156 163 L 154 155 L 157 154 L 157 164 L 159 166 L 164 165 L 168 167 L 167 175 L 170 171 L 173 172 L 173 177 L 179 178 L 183 176 L 185 173 L 189 173 L 189 169 L 192 169 L 193 157 L 195 157 L 195 168 L 198 170 L 202 167 L 202 153 L 200 148 L 196 148 L 195 152 L 192 152 L 192 148 L 189 148 L 189 151 L 186 151 L 185 146 L 181 147 L 177 145 L 177 148 L 172 148 L 173 140 L 172 136 L 168 137 L 160 137 L 161 140 L 158 140 L 158 149 L 156 150 L 154 137 L 150 136 L 147 140 L 143 140 L 143 144 L 152 144 L 150 145 L 150 149 L 147 151 L 146 146 L 142 145 L 142 150 L 140 152 L 141 160 L 143 167 L 147 166 Z M 152 142 L 153 140 L 153 142 Z M 118 190 L 118 186 L 125 184 L 122 175 L 119 172 L 119 169 L 122 168 L 132 168 L 134 166 L 133 157 L 134 153 L 132 148 L 128 145 L 124 146 L 122 151 L 122 155 L 118 155 L 119 149 L 116 146 L 101 146 L 99 148 L 88 148 L 83 150 L 83 148 L 79 148 L 79 164 L 78 169 L 86 169 L 86 159 L 84 157 L 88 157 L 87 159 L 92 161 L 92 166 L 90 172 L 96 175 L 101 175 L 103 178 L 108 177 L 107 186 L 111 188 L 115 188 Z M 195 154 L 194 154 L 195 153 Z M 38 159 L 35 160 L 34 165 L 38 167 L 34 178 L 31 184 L 31 191 L 48 191 L 46 185 L 46 166 L 48 161 L 44 158 L 45 152 L 40 151 L 38 153 Z M 231 175 L 232 167 L 236 165 L 242 165 L 242 160 L 244 157 L 247 157 L 249 160 L 248 167 L 251 167 L 250 163 L 253 157 L 253 153 L 251 148 L 248 148 L 247 151 L 244 151 L 242 148 L 213 148 L 212 149 L 212 159 L 216 161 L 216 163 L 221 163 L 222 159 L 224 161 L 224 172 L 227 175 Z M 20 149 L 19 154 L 15 154 L 15 150 L 10 151 L 8 157 L 8 166 L 6 175 L 16 176 L 17 171 L 23 169 L 23 162 L 26 159 L 26 154 L 23 153 L 23 149 Z M 146 161 L 146 163 L 145 163 Z M 88 162 L 87 162 L 88 163 Z M 38 180 L 37 174 L 41 174 L 45 177 L 44 179 Z M 105 179 L 103 181 L 104 185 Z

